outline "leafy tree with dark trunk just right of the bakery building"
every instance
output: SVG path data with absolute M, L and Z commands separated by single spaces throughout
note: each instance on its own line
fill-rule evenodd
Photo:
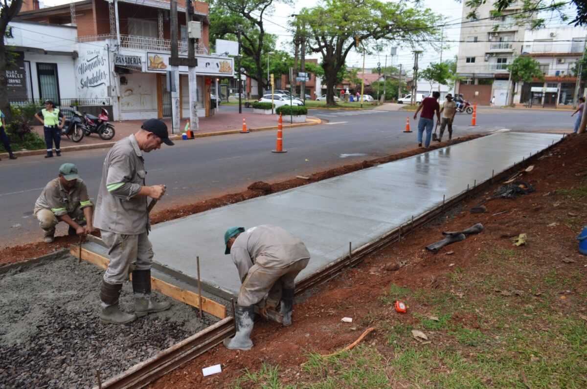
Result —
M 257 81 L 258 95 L 268 87 L 266 55 L 274 51 L 277 40 L 275 35 L 266 32 L 264 17 L 271 15 L 278 3 L 290 4 L 291 0 L 216 0 L 211 4 L 210 38 L 230 36 L 235 39 L 240 32 L 241 67 L 247 76 Z

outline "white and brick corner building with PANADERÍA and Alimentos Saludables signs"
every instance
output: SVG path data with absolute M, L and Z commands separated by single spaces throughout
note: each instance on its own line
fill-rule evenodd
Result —
M 185 6 L 185 0 L 178 0 L 180 56 L 187 56 Z M 230 57 L 210 54 L 208 4 L 193 1 L 191 6 L 194 20 L 200 22 L 201 38 L 195 45 L 195 57 L 198 115 L 203 117 L 213 113 L 212 84 L 217 78 L 234 77 L 234 63 Z M 171 92 L 166 87 L 171 55 L 169 11 L 170 3 L 165 0 L 83 0 L 50 8 L 39 8 L 38 0 L 24 0 L 16 22 L 76 28 L 73 39 L 62 41 L 69 46 L 62 50 L 69 52 L 66 63 L 55 62 L 54 56 L 48 57 L 43 51 L 36 53 L 41 58 L 31 59 L 31 50 L 23 50 L 24 60 L 35 62 L 29 66 L 27 77 L 33 80 L 31 84 L 38 84 L 31 87 L 29 97 L 108 101 L 113 107 L 114 120 L 171 116 Z M 22 42 L 21 46 L 34 46 L 31 42 L 35 39 L 55 42 L 59 34 L 63 35 L 53 32 L 46 39 L 42 35 L 29 36 L 29 42 Z M 26 69 L 24 66 L 25 72 Z M 180 115 L 188 117 L 188 69 L 180 66 L 179 72 Z M 64 81 L 68 87 L 64 87 Z

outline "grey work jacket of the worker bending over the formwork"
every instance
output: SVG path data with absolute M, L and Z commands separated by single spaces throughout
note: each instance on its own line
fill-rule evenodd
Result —
M 284 228 L 263 224 L 239 234 L 230 248 L 230 256 L 237 265 L 242 282 L 254 264 L 282 269 L 310 258 L 310 252 L 301 240 Z

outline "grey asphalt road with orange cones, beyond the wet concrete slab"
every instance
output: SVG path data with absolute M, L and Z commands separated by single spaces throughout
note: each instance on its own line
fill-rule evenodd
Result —
M 221 107 L 237 110 L 238 107 Z M 309 175 L 333 166 L 397 153 L 413 148 L 416 132 L 405 134 L 406 116 L 416 129 L 413 112 L 309 110 L 309 115 L 328 120 L 311 127 L 284 131 L 286 153 L 272 153 L 275 131 L 222 135 L 178 141 L 146 155 L 147 184 L 167 185 L 167 195 L 157 204 L 185 204 L 238 192 L 255 181 L 276 182 Z M 571 112 L 480 108 L 478 127 L 470 127 L 471 115 L 457 114 L 454 136 L 512 131 L 572 131 Z M 21 157 L 0 162 L 0 225 L 2 246 L 38 241 L 42 231 L 32 215 L 42 188 L 65 162 L 77 165 L 90 197 L 95 199 L 104 156 L 109 149 L 63 153 L 60 158 Z M 65 233 L 60 223 L 58 234 Z

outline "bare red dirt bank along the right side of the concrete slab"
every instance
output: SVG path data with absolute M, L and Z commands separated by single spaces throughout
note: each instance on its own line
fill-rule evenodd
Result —
M 583 265 L 587 265 L 587 259 L 577 252 L 575 237 L 585 222 L 585 202 L 568 200 L 561 190 L 571 189 L 581 182 L 585 185 L 586 148 L 587 135 L 566 138 L 546 154 L 545 158 L 535 161 L 531 172 L 524 172 L 519 176 L 518 179 L 534 185 L 536 192 L 515 200 L 493 200 L 485 204 L 487 213 L 469 213 L 470 207 L 492 193 L 500 183 L 493 185 L 477 199 L 465 202 L 463 207 L 454 208 L 441 218 L 417 229 L 399 243 L 388 245 L 369 255 L 357 268 L 348 269 L 328 284 L 316 288 L 306 301 L 295 305 L 292 326 L 281 327 L 264 320 L 255 323 L 252 335 L 255 346 L 252 350 L 241 352 L 230 351 L 222 346 L 214 347 L 149 387 L 228 387 L 235 378 L 242 376 L 243 369 L 257 371 L 262 363 L 279 365 L 282 372 L 280 378 L 286 383 L 295 383 L 296 372 L 301 371 L 300 365 L 306 361 L 305 353 L 328 354 L 342 349 L 356 340 L 377 318 L 394 317 L 394 320 L 406 324 L 417 320 L 413 315 L 400 315 L 394 312 L 390 305 L 382 305 L 378 296 L 387 285 L 395 284 L 413 289 L 450 289 L 447 286 L 450 284 L 447 274 L 453 269 L 492 266 L 487 262 L 489 260 L 484 260 L 480 255 L 488 247 L 515 250 L 531 261 L 537 271 L 581 271 Z M 338 170 L 335 169 L 335 172 Z M 336 174 L 335 172 L 322 174 Z M 250 195 L 253 196 L 255 193 Z M 506 212 L 494 216 L 502 211 Z M 441 231 L 460 230 L 475 223 L 483 223 L 483 233 L 469 236 L 463 242 L 445 247 L 438 254 L 424 250 L 426 244 L 442 238 Z M 519 233 L 528 235 L 528 244 L 524 247 L 512 245 L 511 237 L 518 236 Z M 408 264 L 398 271 L 384 270 L 390 263 L 406 260 Z M 567 264 L 562 260 L 575 262 Z M 513 293 L 517 289 L 527 290 L 528 279 L 512 277 L 510 282 Z M 457 296 L 467 294 L 466 290 L 451 292 Z M 569 309 L 575 309 L 572 308 L 571 301 L 578 303 L 576 300 L 579 299 L 581 292 L 569 294 L 558 304 L 566 304 Z M 410 301 L 407 303 L 410 305 Z M 431 307 L 417 305 L 414 302 L 410 309 L 424 315 Z M 344 316 L 353 318 L 353 323 L 340 322 Z M 451 320 L 468 328 L 480 326 L 476 315 L 457 313 Z M 386 350 L 392 347 L 385 346 L 385 342 L 377 336 L 377 331 L 372 332 L 363 343 L 373 344 L 380 340 L 377 344 L 381 346 L 377 346 L 378 348 Z M 386 352 L 390 353 L 390 350 Z M 203 377 L 203 367 L 218 363 L 222 364 L 221 374 Z

